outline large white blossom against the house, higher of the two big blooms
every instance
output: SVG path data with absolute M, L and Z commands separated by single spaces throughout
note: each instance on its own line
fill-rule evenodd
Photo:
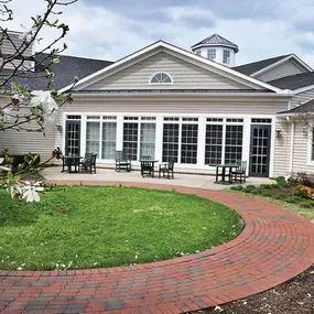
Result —
M 31 106 L 43 107 L 43 115 L 47 120 L 53 120 L 56 116 L 56 111 L 58 109 L 58 106 L 56 101 L 53 99 L 51 93 L 48 90 L 34 90 L 32 91 L 32 99 L 31 99 Z

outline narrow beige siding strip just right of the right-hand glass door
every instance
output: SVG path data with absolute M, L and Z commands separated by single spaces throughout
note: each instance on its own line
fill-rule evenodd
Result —
M 274 139 L 273 176 L 289 175 L 291 152 L 291 123 L 277 121 L 275 129 L 280 136 Z

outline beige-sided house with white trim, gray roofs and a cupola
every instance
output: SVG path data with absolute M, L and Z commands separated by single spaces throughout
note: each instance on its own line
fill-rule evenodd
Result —
M 214 34 L 191 52 L 159 41 L 115 63 L 64 56 L 55 83 L 74 101 L 45 137 L 6 132 L 0 148 L 43 158 L 56 147 L 94 152 L 99 166 L 113 166 L 115 151 L 126 149 L 134 166 L 149 154 L 185 172 L 238 160 L 250 176 L 311 172 L 312 132 L 293 109 L 314 98 L 312 68 L 294 54 L 235 66 L 237 53 Z M 42 88 L 36 78 L 21 83 Z

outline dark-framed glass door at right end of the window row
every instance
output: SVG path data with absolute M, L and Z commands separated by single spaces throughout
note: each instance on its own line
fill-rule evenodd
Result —
M 269 176 L 271 126 L 252 124 L 250 143 L 250 176 Z

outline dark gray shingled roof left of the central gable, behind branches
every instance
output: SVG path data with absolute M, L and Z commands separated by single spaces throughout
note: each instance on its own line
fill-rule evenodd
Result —
M 35 55 L 36 64 L 43 61 L 46 56 L 47 54 Z M 47 64 L 47 61 L 44 62 L 43 65 L 37 65 L 34 72 L 28 72 L 26 74 L 19 72 L 14 77 L 14 82 L 28 85 L 33 90 L 46 89 L 47 79 L 45 79 L 44 64 Z M 112 64 L 112 62 L 63 55 L 59 63 L 50 66 L 50 71 L 54 73 L 53 87 L 61 89 L 72 84 L 76 76 L 82 79 L 110 64 Z M 2 71 L 0 78 L 1 76 L 3 77 L 10 73 L 11 72 L 8 69 Z

